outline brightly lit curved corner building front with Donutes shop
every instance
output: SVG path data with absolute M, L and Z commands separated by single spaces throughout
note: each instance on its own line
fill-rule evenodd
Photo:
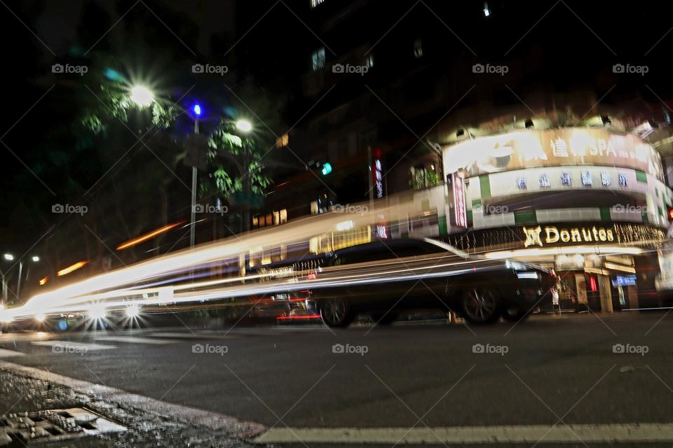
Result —
M 566 308 L 656 305 L 646 300 L 653 281 L 646 266 L 665 237 L 673 192 L 659 153 L 639 137 L 587 127 L 517 130 L 445 146 L 443 161 L 453 174 L 444 190 L 451 244 L 554 268 Z M 455 199 L 456 176 L 465 204 Z M 466 228 L 452 218 L 463 207 Z

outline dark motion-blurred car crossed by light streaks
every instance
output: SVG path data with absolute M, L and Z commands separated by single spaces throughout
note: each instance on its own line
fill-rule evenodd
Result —
M 345 266 L 345 268 L 344 268 Z M 339 267 L 339 269 L 330 269 Z M 344 327 L 358 313 L 390 323 L 406 309 L 455 311 L 470 323 L 518 321 L 530 314 L 557 283 L 541 267 L 468 255 L 433 239 L 374 241 L 326 254 L 314 278 L 352 279 L 358 272 L 377 280 L 344 281 L 311 291 L 306 307 L 332 327 Z M 309 274 L 311 275 L 311 274 Z

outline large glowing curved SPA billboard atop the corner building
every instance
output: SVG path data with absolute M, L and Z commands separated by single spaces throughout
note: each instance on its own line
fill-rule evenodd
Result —
M 631 134 L 566 128 L 510 132 L 444 149 L 444 169 L 470 176 L 529 167 L 599 165 L 638 169 L 663 179 L 661 157 Z

